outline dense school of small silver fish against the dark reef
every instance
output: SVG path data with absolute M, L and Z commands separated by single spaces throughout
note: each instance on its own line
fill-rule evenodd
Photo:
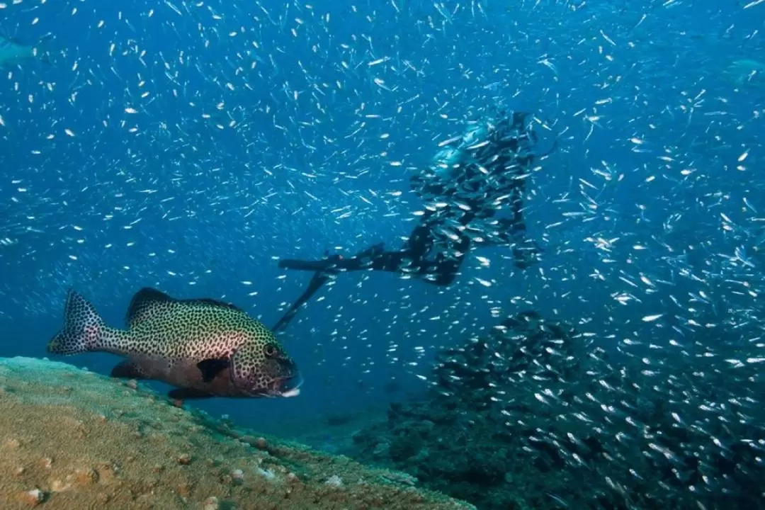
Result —
M 730 348 L 646 344 L 619 356 L 521 313 L 441 352 L 428 381 L 468 423 L 519 438 L 517 462 L 553 491 L 578 480 L 545 491 L 553 508 L 760 508 L 763 381 Z

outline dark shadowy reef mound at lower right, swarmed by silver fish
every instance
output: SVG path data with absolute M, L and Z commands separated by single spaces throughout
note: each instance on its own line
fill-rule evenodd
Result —
M 428 395 L 345 453 L 481 510 L 760 508 L 762 385 L 700 345 L 646 347 L 617 363 L 591 336 L 519 314 L 444 349 Z

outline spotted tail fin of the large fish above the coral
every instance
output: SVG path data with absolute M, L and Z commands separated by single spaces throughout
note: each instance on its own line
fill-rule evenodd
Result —
M 84 297 L 70 289 L 63 308 L 63 327 L 47 345 L 52 354 L 77 354 L 98 350 L 109 328 Z

